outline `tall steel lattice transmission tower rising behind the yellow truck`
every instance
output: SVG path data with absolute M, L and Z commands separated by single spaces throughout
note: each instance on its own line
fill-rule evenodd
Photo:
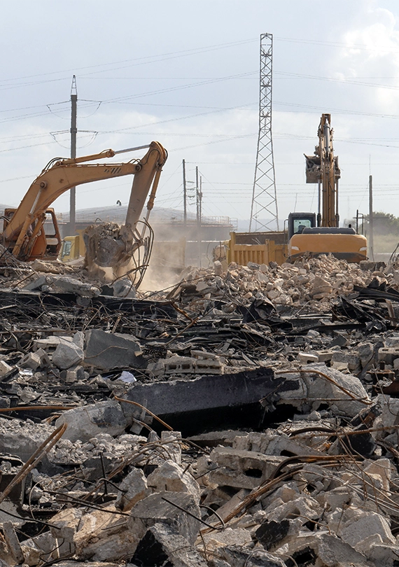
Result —
M 273 35 L 260 36 L 259 134 L 249 230 L 279 230 L 272 141 Z

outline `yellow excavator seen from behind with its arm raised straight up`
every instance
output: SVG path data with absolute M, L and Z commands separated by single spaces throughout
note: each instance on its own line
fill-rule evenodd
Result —
M 304 255 L 332 253 L 348 262 L 367 259 L 367 240 L 349 226 L 339 228 L 338 180 L 341 172 L 332 147 L 331 115 L 322 114 L 318 146 L 305 155 L 306 182 L 318 183 L 318 214 L 290 213 L 288 216 L 288 261 Z

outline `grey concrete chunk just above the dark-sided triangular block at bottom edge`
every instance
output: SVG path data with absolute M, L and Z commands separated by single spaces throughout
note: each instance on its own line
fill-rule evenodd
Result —
M 174 506 L 178 505 L 178 507 Z M 197 535 L 202 525 L 200 522 L 181 510 L 188 510 L 190 514 L 200 518 L 200 507 L 197 505 L 194 496 L 187 492 L 162 491 L 143 500 L 132 507 L 128 524 L 130 529 L 137 526 L 137 520 L 146 528 L 151 528 L 154 524 L 164 524 L 176 534 L 182 535 L 191 545 L 194 545 Z

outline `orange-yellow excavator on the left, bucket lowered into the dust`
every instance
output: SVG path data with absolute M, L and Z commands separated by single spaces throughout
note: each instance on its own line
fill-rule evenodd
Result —
M 145 148 L 148 151 L 141 159 L 124 163 L 92 163 Z M 52 202 L 70 188 L 83 183 L 132 175 L 134 179 L 125 224 L 121 227 L 116 223 L 92 225 L 84 231 L 83 239 L 89 269 L 110 268 L 113 277 L 126 273 L 137 283 L 137 274 L 141 280 L 151 253 L 148 216 L 153 209 L 166 160 L 167 151 L 157 141 L 128 150 L 105 150 L 81 158 L 51 160 L 31 184 L 20 206 L 4 211 L 0 262 L 7 263 L 10 257 L 26 262 L 36 258 L 55 260 L 62 241 L 54 209 L 49 208 Z M 146 216 L 140 221 L 148 193 Z M 139 223 L 143 225 L 141 231 Z M 150 236 L 145 236 L 146 229 Z

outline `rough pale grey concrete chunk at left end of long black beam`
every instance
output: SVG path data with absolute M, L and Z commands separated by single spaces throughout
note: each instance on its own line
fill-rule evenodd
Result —
M 63 438 L 72 442 L 88 441 L 98 433 L 120 435 L 129 424 L 115 400 L 68 409 L 55 422 L 57 427 L 62 423 L 68 424 Z

